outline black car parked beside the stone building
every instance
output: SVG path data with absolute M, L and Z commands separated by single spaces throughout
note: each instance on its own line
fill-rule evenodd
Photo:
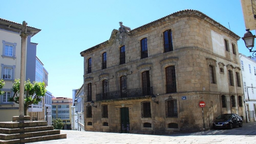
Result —
M 222 114 L 218 116 L 215 121 L 212 122 L 213 128 L 229 128 L 233 129 L 233 127 L 242 127 L 243 119 L 241 116 L 237 114 Z

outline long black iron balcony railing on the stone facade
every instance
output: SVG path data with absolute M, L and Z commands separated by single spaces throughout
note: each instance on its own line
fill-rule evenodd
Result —
M 141 97 L 146 95 L 153 95 L 152 87 L 99 93 L 99 94 L 96 94 L 96 100 L 112 100 L 112 99 L 120 99 L 120 98 Z

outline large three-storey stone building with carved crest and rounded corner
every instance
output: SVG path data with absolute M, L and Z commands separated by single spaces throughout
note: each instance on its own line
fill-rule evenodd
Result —
M 119 24 L 80 53 L 85 131 L 173 133 L 210 128 L 223 113 L 244 116 L 235 33 L 196 10 L 132 30 Z

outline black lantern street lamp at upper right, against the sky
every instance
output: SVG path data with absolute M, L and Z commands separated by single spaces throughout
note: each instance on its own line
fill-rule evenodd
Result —
M 252 35 L 252 32 L 250 32 L 250 29 L 245 29 L 246 32 L 244 34 L 244 37 L 242 37 L 242 39 L 244 40 L 245 46 L 249 49 L 250 52 L 253 52 L 253 56 L 254 52 L 256 51 L 252 51 L 252 48 L 254 46 L 254 38 L 256 37 L 255 35 Z

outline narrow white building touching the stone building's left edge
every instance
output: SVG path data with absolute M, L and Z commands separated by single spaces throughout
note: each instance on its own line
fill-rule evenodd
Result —
M 84 131 L 84 84 L 76 93 L 75 97 L 76 113 L 78 119 L 76 120 L 78 131 Z

